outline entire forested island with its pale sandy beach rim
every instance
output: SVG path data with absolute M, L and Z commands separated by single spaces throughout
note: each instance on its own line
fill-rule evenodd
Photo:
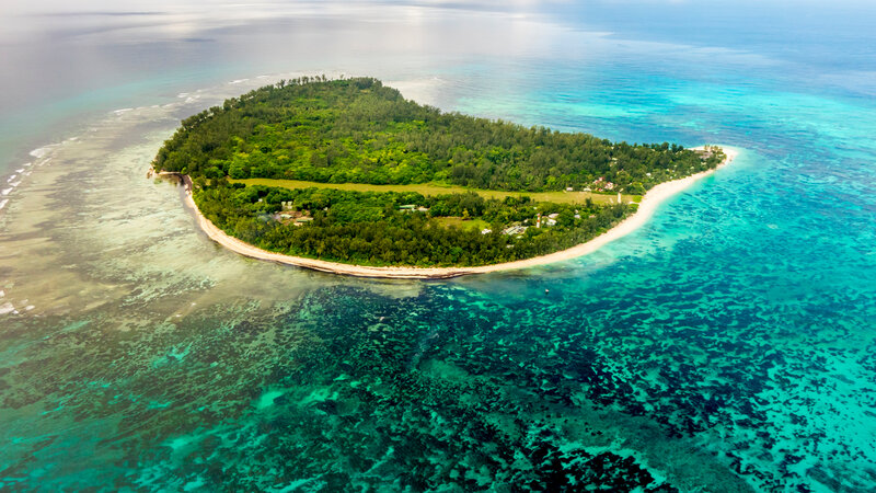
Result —
M 420 105 L 371 78 L 318 77 L 184 119 L 152 165 L 183 177 L 201 228 L 239 253 L 450 277 L 584 253 L 643 194 L 727 160 L 717 147 L 523 127 Z

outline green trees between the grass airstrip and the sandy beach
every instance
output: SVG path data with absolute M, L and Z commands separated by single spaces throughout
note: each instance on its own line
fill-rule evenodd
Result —
M 472 266 L 529 259 L 587 241 L 633 210 L 629 205 L 534 205 L 526 197 L 241 187 L 221 181 L 195 198 L 208 219 L 243 241 L 290 255 L 360 265 Z M 307 226 L 278 221 L 283 203 L 313 220 Z M 399 210 L 413 204 L 428 211 Z M 538 214 L 553 213 L 556 225 L 529 227 L 519 238 L 499 229 L 510 221 L 534 225 Z M 483 234 L 436 220 L 463 215 L 489 222 L 493 231 Z

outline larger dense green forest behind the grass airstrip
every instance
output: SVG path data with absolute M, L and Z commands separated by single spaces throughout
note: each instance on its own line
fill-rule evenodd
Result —
M 369 78 L 283 81 L 183 121 L 155 167 L 195 176 L 324 183 L 448 182 L 506 191 L 580 190 L 599 179 L 641 194 L 716 167 L 669 144 L 442 113 Z

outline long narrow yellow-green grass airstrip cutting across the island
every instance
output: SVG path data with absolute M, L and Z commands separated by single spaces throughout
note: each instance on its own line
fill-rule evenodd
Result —
M 583 204 L 588 197 L 597 204 L 608 204 L 618 200 L 618 194 L 595 194 L 590 192 L 502 192 L 495 190 L 468 188 L 456 185 L 440 185 L 423 183 L 416 185 L 370 185 L 367 183 L 319 183 L 301 180 L 274 180 L 274 179 L 229 179 L 231 183 L 246 185 L 279 186 L 285 188 L 336 188 L 354 192 L 416 192 L 422 195 L 442 195 L 452 193 L 475 192 L 484 198 L 505 198 L 507 196 L 527 195 L 537 202 L 554 202 L 558 204 Z M 638 202 L 641 195 L 621 195 L 623 202 Z

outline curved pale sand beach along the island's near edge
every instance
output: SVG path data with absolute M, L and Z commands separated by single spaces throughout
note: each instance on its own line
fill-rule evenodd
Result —
M 592 253 L 603 245 L 637 230 L 644 226 L 648 219 L 654 215 L 657 207 L 660 206 L 666 199 L 675 196 L 676 194 L 687 190 L 701 179 L 704 179 L 715 171 L 726 167 L 737 156 L 739 151 L 728 147 L 722 147 L 727 154 L 717 168 L 713 170 L 701 171 L 683 179 L 673 180 L 671 182 L 660 183 L 649 190 L 639 200 L 638 209 L 630 217 L 621 221 L 618 226 L 603 232 L 602 234 L 590 239 L 585 243 L 577 244 L 570 249 L 561 250 L 558 252 L 549 253 L 548 255 L 535 256 L 532 259 L 525 259 L 514 262 L 505 262 L 502 264 L 481 265 L 475 267 L 371 267 L 366 265 L 343 264 L 339 262 L 328 262 L 315 259 L 307 259 L 302 256 L 286 255 L 283 253 L 268 252 L 257 246 L 249 244 L 242 240 L 229 236 L 216 225 L 210 222 L 198 209 L 192 197 L 192 179 L 188 175 L 181 175 L 175 172 L 155 172 L 157 176 L 178 176 L 184 186 L 184 202 L 185 205 L 192 209 L 197 219 L 198 227 L 204 231 L 210 240 L 219 243 L 220 245 L 231 250 L 240 255 L 249 256 L 268 262 L 276 262 L 284 265 L 293 265 L 297 267 L 310 268 L 312 271 L 326 272 L 331 274 L 342 274 L 356 277 L 382 277 L 391 279 L 447 279 L 451 277 L 464 276 L 470 274 L 486 274 L 492 272 L 502 271 L 516 271 L 520 268 L 535 267 L 540 265 L 552 264 L 556 262 L 576 259 L 578 256 Z M 702 148 L 702 146 L 700 147 Z M 698 148 L 692 148 L 698 149 Z M 147 176 L 151 176 L 152 172 Z

